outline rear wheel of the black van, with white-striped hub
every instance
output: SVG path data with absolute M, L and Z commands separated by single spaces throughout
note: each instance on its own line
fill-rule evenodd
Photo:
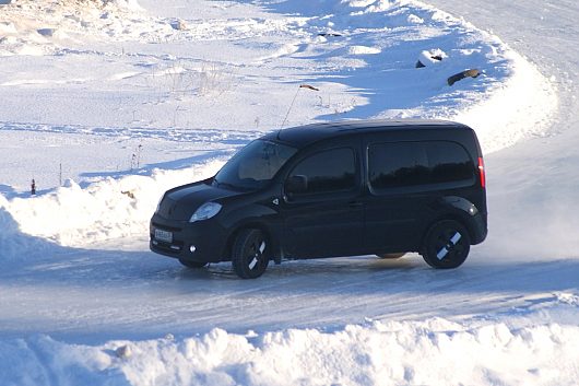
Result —
M 426 234 L 422 257 L 430 267 L 457 268 L 466 260 L 471 250 L 471 237 L 458 221 L 442 220 L 434 224 Z

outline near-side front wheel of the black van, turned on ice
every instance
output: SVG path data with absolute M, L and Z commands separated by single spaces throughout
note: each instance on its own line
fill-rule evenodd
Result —
M 260 230 L 243 230 L 235 238 L 232 265 L 241 279 L 256 279 L 265 272 L 269 258 L 265 235 Z

